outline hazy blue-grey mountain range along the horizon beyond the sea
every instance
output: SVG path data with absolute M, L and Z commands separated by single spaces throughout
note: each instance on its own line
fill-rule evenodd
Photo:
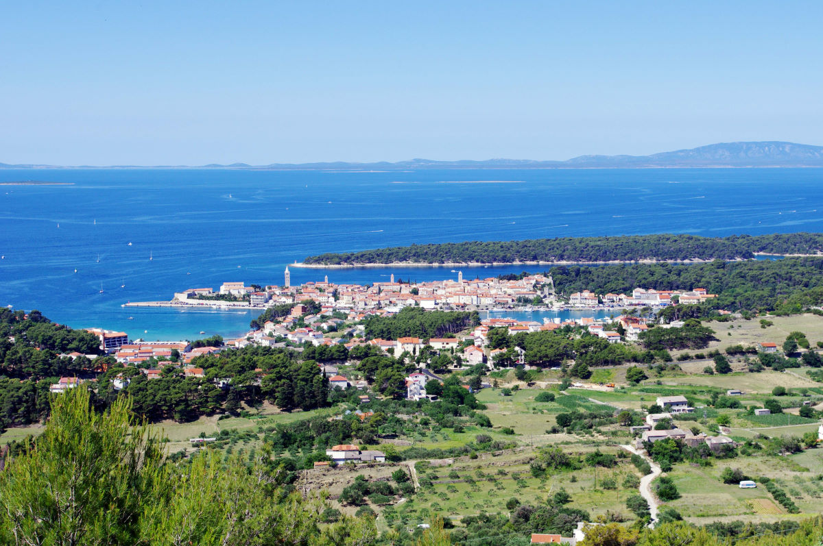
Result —
M 485 160 L 435 161 L 407 160 L 389 163 L 272 163 L 249 165 L 207 164 L 187 165 L 116 165 L 116 169 L 250 169 L 250 170 L 407 170 L 407 169 L 646 169 L 665 167 L 823 167 L 823 146 L 809 146 L 793 142 L 724 142 L 690 150 L 666 151 L 652 155 L 579 155 L 565 161 L 538 160 Z M 0 169 L 49 169 L 58 165 L 5 164 Z M 95 169 L 81 165 L 74 169 Z

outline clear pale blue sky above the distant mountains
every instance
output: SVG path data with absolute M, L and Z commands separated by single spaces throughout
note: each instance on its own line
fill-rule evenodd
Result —
M 823 145 L 821 2 L 0 6 L 4 163 Z

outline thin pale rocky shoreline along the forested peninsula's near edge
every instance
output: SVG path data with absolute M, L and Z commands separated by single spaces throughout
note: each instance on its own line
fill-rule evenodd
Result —
M 773 252 L 752 252 L 755 256 L 776 256 L 776 257 L 823 257 L 823 253 L 818 254 L 775 254 Z M 367 269 L 382 267 L 491 267 L 491 266 L 614 266 L 632 263 L 709 263 L 713 259 L 689 258 L 686 260 L 658 260 L 645 258 L 643 260 L 610 260 L 610 261 L 585 261 L 585 260 L 556 260 L 556 261 L 444 261 L 442 263 L 426 263 L 423 261 L 391 261 L 387 263 L 358 263 L 358 264 L 315 264 L 295 261 L 289 267 L 300 267 L 303 269 Z M 726 261 L 746 261 L 751 258 L 734 258 Z

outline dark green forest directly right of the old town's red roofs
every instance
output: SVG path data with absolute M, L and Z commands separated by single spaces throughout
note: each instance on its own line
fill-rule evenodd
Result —
M 800 312 L 823 303 L 823 258 L 711 261 L 698 264 L 622 264 L 556 266 L 549 271 L 561 294 L 592 290 L 598 294 L 630 293 L 636 287 L 656 290 L 704 288 L 718 298 L 714 309 Z

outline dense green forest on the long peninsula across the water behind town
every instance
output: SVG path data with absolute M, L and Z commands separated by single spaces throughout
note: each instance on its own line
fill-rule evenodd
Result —
M 696 235 L 655 234 L 616 237 L 563 237 L 524 241 L 468 241 L 466 243 L 413 244 L 360 252 L 328 252 L 309 256 L 307 264 L 360 265 L 416 262 L 519 262 L 519 261 L 638 261 L 735 260 L 767 254 L 823 252 L 823 234 Z

